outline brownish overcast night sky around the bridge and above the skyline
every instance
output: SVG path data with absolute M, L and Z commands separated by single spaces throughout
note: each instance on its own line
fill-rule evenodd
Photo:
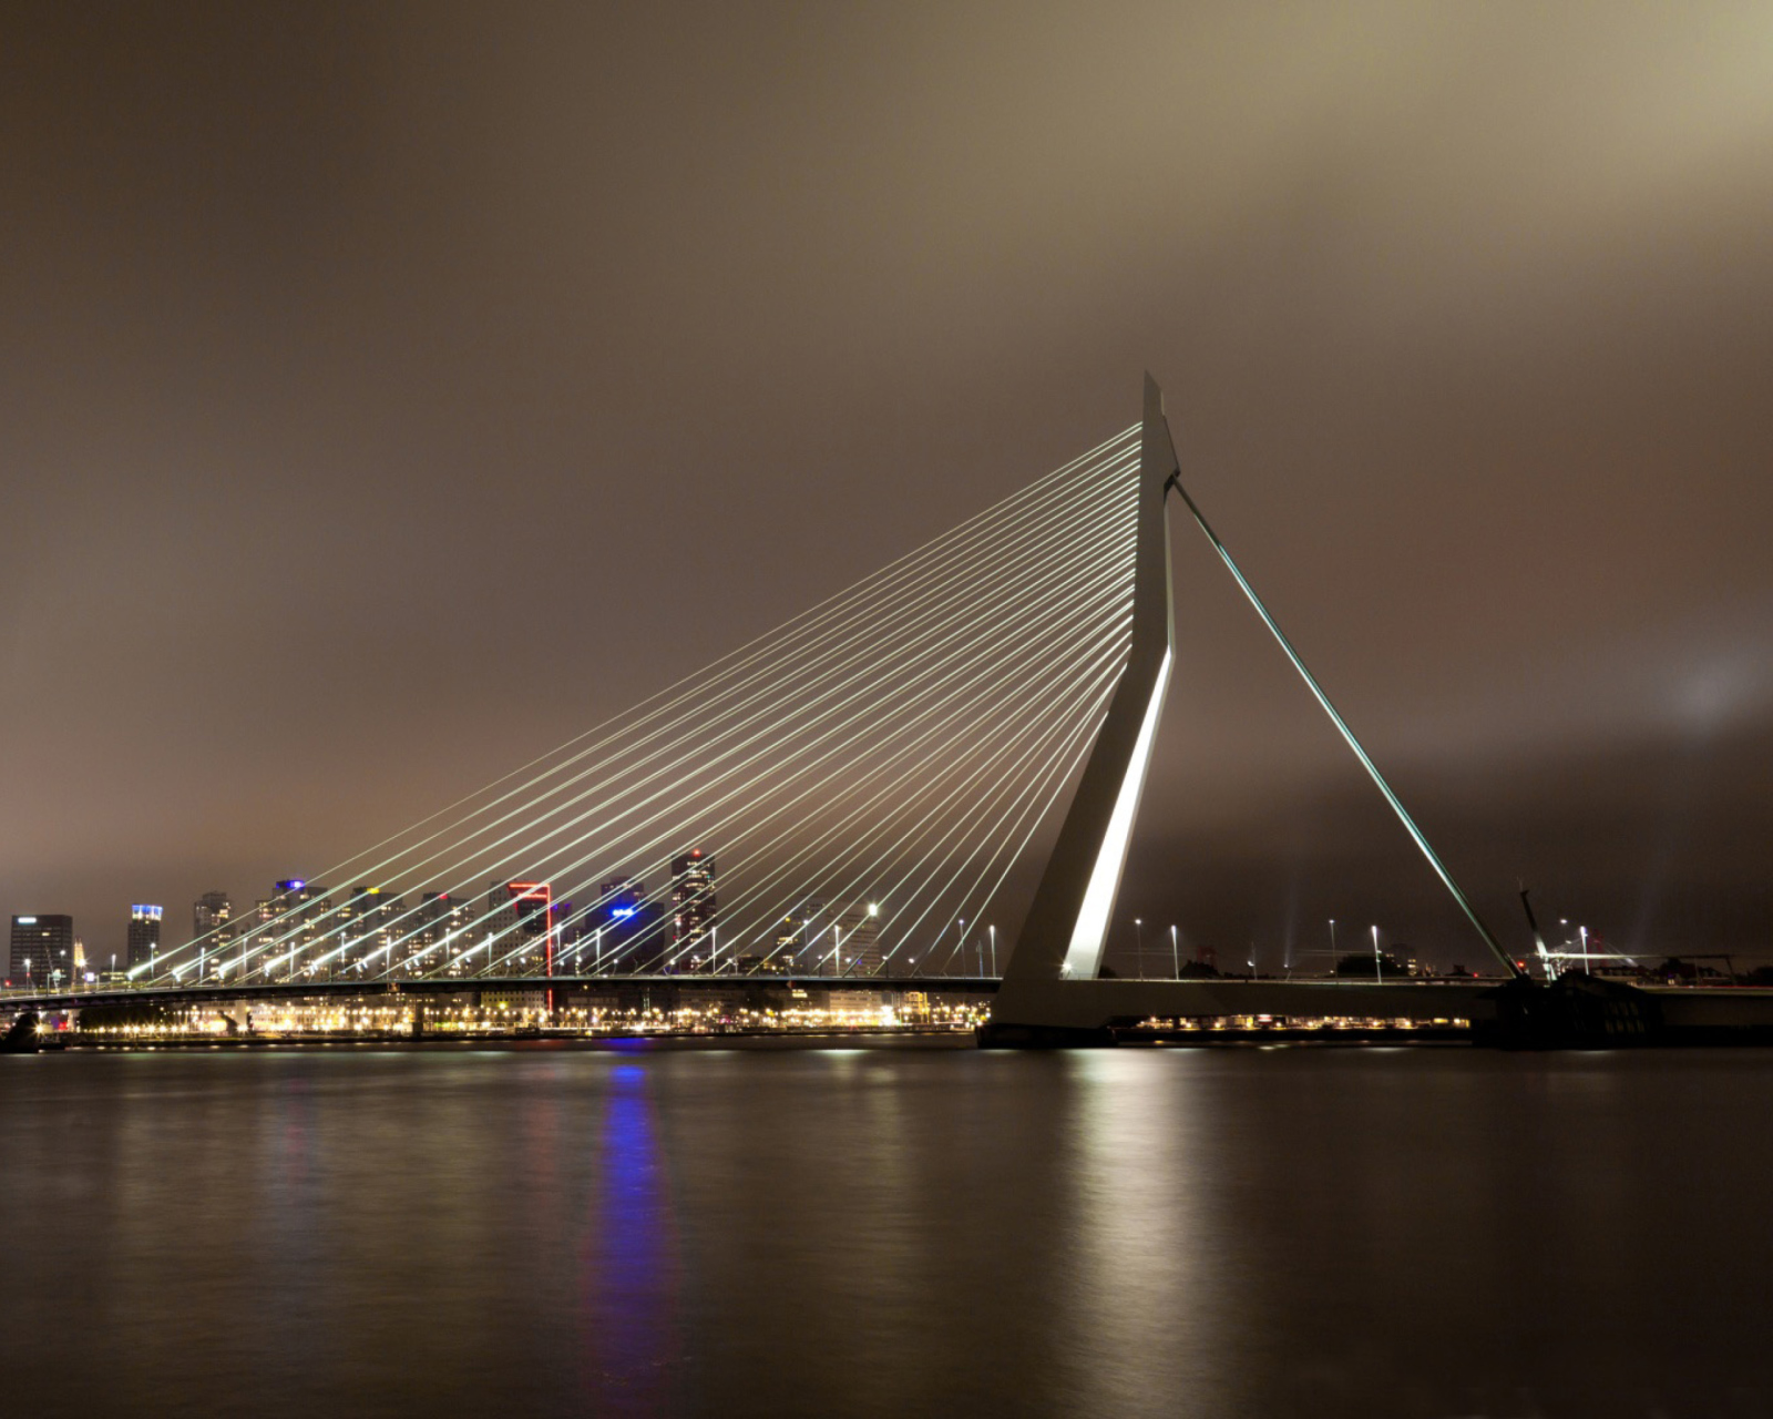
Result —
M 1764 5 L 9 4 L 0 181 L 0 912 L 94 954 L 908 552 L 1145 369 L 1511 945 L 1525 876 L 1773 951 Z M 1172 536 L 1119 913 L 1477 965 Z

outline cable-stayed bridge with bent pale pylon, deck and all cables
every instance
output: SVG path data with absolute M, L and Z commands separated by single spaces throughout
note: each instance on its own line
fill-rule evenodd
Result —
M 1493 956 L 1500 984 L 1103 972 L 1175 672 L 1172 495 Z M 488 883 L 488 910 L 475 915 Z M 1140 1020 L 1227 1015 L 1459 1018 L 1612 1041 L 1668 1020 L 1739 1025 L 1750 1004 L 1746 992 L 1670 1002 L 1613 983 L 1530 979 L 1183 488 L 1149 376 L 1140 422 L 1082 458 L 628 711 L 278 887 L 255 919 L 160 951 L 122 979 L 5 1004 L 521 988 L 543 992 L 551 1013 L 613 983 L 730 992 L 886 981 L 993 993 L 980 1041 L 1005 1047 L 1108 1043 Z M 1023 905 L 1014 942 L 1000 940 L 995 921 Z M 1773 1000 L 1753 1007 L 1768 1020 L 1750 1023 L 1773 1022 Z

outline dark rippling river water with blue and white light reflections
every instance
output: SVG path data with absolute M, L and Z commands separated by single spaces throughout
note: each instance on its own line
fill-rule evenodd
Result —
M 1768 1415 L 1773 1054 L 0 1059 L 0 1414 Z

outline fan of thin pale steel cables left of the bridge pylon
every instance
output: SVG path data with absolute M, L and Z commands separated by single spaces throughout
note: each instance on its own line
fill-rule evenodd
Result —
M 1126 658 L 1136 435 L 137 984 L 982 965 Z

